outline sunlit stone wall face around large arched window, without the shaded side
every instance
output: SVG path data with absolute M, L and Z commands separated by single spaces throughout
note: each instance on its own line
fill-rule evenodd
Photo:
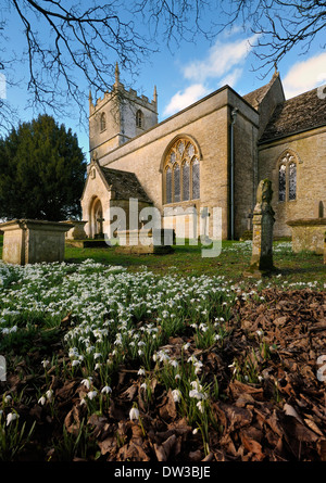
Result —
M 223 209 L 223 236 L 227 237 L 228 124 L 227 90 L 184 110 L 154 129 L 138 136 L 100 160 L 101 165 L 134 171 L 154 205 L 163 212 L 162 164 L 176 136 L 192 137 L 201 151 L 200 203 L 179 206 L 218 206 Z

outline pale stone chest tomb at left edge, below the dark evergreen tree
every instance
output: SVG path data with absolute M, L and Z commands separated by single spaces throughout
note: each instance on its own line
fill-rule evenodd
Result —
M 65 232 L 72 224 L 14 219 L 0 224 L 4 232 L 2 260 L 9 264 L 63 262 Z

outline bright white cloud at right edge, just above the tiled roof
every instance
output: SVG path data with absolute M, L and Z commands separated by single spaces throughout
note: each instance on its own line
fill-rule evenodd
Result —
M 326 53 L 321 53 L 294 64 L 284 78 L 283 85 L 285 96 L 289 99 L 325 82 Z

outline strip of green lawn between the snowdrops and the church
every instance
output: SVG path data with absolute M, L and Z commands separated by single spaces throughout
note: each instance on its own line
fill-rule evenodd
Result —
M 225 276 L 240 281 L 250 264 L 251 243 L 224 241 L 221 254 L 213 257 L 203 257 L 200 245 L 189 244 L 175 245 L 174 253 L 167 255 L 121 255 L 115 253 L 114 247 L 83 250 L 66 246 L 67 263 L 80 263 L 87 258 L 105 265 L 118 265 L 133 272 L 147 267 L 158 275 Z M 288 241 L 274 242 L 274 264 L 278 271 L 268 278 L 268 283 L 279 284 L 280 278 L 289 283 L 325 282 L 323 256 L 310 252 L 293 254 Z

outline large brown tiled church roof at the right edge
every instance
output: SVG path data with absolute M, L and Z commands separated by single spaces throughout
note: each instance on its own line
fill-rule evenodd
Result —
M 326 125 L 326 99 L 313 89 L 278 104 L 260 143 Z

